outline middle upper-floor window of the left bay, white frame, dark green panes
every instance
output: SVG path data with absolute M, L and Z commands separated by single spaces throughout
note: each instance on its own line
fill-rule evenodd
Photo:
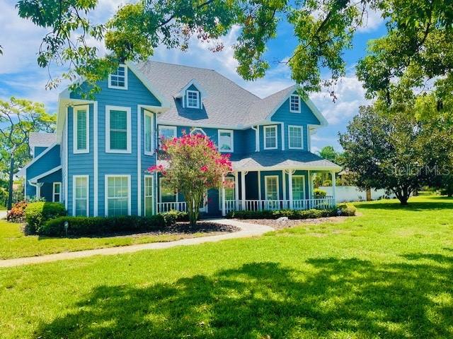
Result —
M 105 107 L 105 152 L 131 153 L 130 107 Z

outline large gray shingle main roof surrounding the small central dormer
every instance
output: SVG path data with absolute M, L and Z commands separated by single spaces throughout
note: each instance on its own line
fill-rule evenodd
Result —
M 167 124 L 247 126 L 268 117 L 295 88 L 291 86 L 260 99 L 212 69 L 156 61 L 137 64 L 137 69 L 171 102 L 170 109 L 159 116 L 159 122 Z M 203 109 L 183 108 L 175 99 L 181 88 L 194 79 L 207 94 Z

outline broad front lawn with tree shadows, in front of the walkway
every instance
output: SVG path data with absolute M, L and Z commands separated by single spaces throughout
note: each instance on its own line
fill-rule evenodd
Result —
M 453 200 L 0 270 L 0 338 L 453 338 Z

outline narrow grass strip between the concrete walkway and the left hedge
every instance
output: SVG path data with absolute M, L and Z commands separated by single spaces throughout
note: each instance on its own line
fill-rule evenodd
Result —
M 19 258 L 23 256 L 40 256 L 42 254 L 66 251 L 82 251 L 84 249 L 100 249 L 103 247 L 145 244 L 149 242 L 171 242 L 187 237 L 201 237 L 205 233 L 194 234 L 159 234 L 137 235 L 125 237 L 80 237 L 51 238 L 25 236 L 20 224 L 0 220 L 0 258 Z

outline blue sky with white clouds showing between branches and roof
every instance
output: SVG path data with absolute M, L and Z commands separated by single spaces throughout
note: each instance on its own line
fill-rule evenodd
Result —
M 98 8 L 92 14 L 93 19 L 104 22 L 123 1 L 99 0 Z M 4 55 L 0 56 L 0 99 L 6 100 L 11 95 L 25 97 L 44 102 L 49 112 L 55 112 L 57 96 L 62 89 L 45 90 L 49 75 L 36 63 L 36 52 L 47 31 L 18 18 L 14 8 L 15 4 L 16 1 L 0 0 L 0 30 L 2 32 L 0 44 L 4 47 Z M 360 28 L 355 36 L 354 47 L 345 51 L 344 57 L 348 64 L 348 73 L 336 86 L 338 100 L 335 103 L 332 102 L 330 95 L 326 92 L 311 95 L 311 99 L 329 122 L 328 127 L 319 129 L 313 136 L 312 148 L 314 151 L 324 145 L 333 145 L 339 149 L 338 132 L 345 131 L 348 121 L 357 114 L 358 107 L 367 103 L 362 85 L 355 77 L 355 64 L 365 55 L 367 41 L 384 34 L 385 26 L 379 13 L 369 12 L 367 25 Z M 159 47 L 152 59 L 214 69 L 260 97 L 273 94 L 293 84 L 289 76 L 289 69 L 284 64 L 274 62 L 289 57 L 297 43 L 289 25 L 285 23 L 279 25 L 278 37 L 270 42 L 266 54 L 272 67 L 265 78 L 258 81 L 243 81 L 236 74 L 236 61 L 231 49 L 231 44 L 234 43 L 236 36 L 237 30 L 231 30 L 229 35 L 224 37 L 225 48 L 222 52 L 212 53 L 208 50 L 207 44 L 194 40 L 191 42 L 188 52 Z M 103 46 L 98 45 L 98 47 L 103 52 Z M 328 73 L 324 73 L 323 76 L 328 78 Z

